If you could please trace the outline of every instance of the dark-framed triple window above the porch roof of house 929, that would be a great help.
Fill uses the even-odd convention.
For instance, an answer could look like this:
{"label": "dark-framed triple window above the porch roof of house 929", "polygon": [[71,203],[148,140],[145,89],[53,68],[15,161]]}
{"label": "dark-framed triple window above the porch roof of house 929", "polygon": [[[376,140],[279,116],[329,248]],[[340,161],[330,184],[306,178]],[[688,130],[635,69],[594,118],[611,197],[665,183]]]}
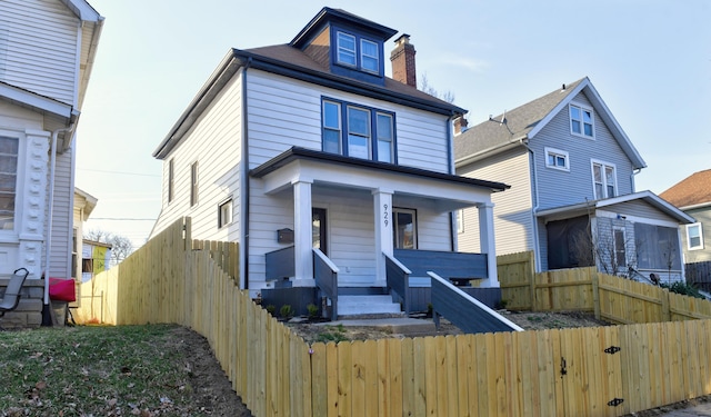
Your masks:
{"label": "dark-framed triple window above the porch roof of house 929", "polygon": [[352,158],[395,162],[394,115],[324,99],[322,150]]}

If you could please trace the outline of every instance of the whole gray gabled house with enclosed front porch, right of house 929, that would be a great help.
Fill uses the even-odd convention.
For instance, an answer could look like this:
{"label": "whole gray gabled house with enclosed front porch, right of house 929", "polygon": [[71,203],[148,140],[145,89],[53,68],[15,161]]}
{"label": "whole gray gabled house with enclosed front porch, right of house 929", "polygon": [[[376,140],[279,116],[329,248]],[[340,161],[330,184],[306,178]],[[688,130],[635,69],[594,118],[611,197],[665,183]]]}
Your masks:
{"label": "whole gray gabled house with enclosed front porch, right of house 929", "polygon": [[[644,160],[588,78],[465,130],[454,152],[458,175],[511,186],[492,196],[498,254],[533,250],[539,271],[683,278],[678,229],[693,219],[635,191]],[[460,218],[460,250],[479,250],[475,217]]]}

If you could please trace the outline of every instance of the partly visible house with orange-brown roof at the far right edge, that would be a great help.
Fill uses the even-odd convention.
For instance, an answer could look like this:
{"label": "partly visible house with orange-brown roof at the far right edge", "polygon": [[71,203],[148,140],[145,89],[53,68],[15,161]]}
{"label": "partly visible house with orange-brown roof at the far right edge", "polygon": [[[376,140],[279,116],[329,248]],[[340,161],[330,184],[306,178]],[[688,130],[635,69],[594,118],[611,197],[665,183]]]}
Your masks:
{"label": "partly visible house with orange-brown roof at the far right edge", "polygon": [[660,197],[695,219],[681,227],[684,262],[711,261],[711,169],[694,172]]}

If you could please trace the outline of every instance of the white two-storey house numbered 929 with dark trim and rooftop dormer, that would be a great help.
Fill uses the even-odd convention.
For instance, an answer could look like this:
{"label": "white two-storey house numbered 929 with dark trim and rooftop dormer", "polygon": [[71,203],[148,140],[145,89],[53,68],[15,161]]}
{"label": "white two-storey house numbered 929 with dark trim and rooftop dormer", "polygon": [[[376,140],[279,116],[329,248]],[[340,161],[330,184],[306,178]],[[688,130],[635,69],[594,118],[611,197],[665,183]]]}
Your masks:
{"label": "white two-storey house numbered 929 with dark trim and rooftop dormer", "polygon": [[491,193],[507,186],[454,175],[452,120],[465,110],[417,89],[407,34],[385,77],[395,33],[324,8],[289,43],[230,50],[153,153],[153,235],[190,216],[193,238],[240,242],[254,297],[280,249],[291,258],[276,274],[293,287],[314,287],[314,259],[339,287],[381,287],[398,250],[455,251],[452,214],[473,208],[488,255],[478,278],[498,287]]}

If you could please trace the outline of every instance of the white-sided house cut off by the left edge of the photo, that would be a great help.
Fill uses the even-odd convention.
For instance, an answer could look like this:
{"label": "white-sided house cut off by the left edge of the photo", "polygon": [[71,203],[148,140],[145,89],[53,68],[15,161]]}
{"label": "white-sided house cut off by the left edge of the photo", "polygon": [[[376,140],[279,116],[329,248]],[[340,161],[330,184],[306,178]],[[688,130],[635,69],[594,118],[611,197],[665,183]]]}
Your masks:
{"label": "white-sided house cut off by the left edge of the photo", "polygon": [[[83,0],[0,6],[0,275],[69,278],[74,133],[103,18]],[[48,225],[51,224],[51,234]]]}

